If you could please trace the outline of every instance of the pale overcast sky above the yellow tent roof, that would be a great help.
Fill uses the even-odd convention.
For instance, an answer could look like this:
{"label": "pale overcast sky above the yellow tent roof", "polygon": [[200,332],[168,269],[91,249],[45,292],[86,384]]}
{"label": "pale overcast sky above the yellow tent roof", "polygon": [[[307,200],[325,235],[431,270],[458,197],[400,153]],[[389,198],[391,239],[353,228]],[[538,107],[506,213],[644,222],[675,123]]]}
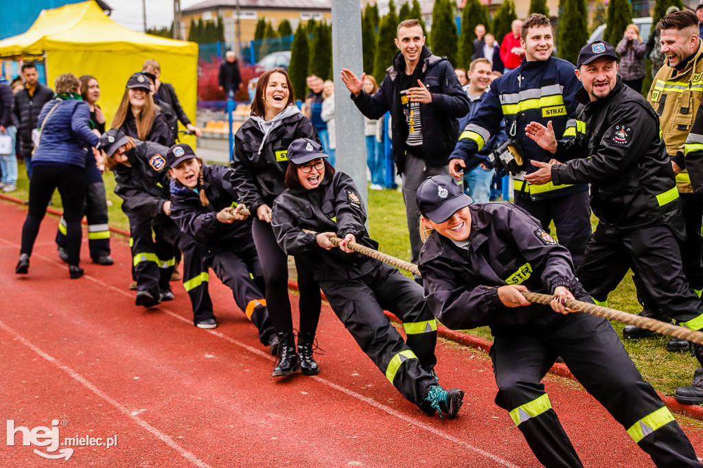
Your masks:
{"label": "pale overcast sky above the yellow tent roof", "polygon": [[[143,1],[146,1],[146,27],[170,26],[174,19],[173,0],[106,0],[112,8],[113,21],[130,30],[144,32]],[[181,0],[181,10],[202,0]]]}

